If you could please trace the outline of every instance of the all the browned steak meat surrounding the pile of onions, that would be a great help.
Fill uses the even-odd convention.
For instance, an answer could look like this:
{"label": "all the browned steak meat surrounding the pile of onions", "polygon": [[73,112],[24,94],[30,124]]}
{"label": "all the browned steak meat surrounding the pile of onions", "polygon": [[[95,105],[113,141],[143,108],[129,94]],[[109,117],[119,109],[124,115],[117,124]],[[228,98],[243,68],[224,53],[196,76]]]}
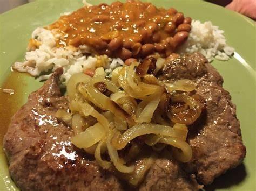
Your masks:
{"label": "all the browned steak meat surrounding the pile of onions", "polygon": [[[11,177],[22,190],[134,190],[70,142],[72,129],[55,117],[69,106],[58,86],[62,72],[57,69],[12,117],[4,137]],[[198,190],[196,178],[211,183],[245,157],[235,107],[219,73],[198,53],[166,63],[161,78],[196,82],[207,112],[190,127],[191,162],[159,157],[137,190]]]}

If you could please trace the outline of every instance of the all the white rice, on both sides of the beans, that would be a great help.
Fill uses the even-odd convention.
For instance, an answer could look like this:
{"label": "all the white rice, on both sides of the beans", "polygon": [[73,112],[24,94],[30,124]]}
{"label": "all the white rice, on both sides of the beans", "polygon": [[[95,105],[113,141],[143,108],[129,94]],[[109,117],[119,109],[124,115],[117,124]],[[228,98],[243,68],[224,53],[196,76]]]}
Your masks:
{"label": "all the white rice, on both sides of the beans", "polygon": [[[203,53],[209,61],[213,58],[228,60],[234,52],[234,48],[226,44],[224,31],[211,22],[201,23],[192,21],[192,30],[186,43],[180,47],[179,53]],[[51,73],[59,67],[63,67],[62,81],[68,82],[73,74],[84,72],[85,69],[95,69],[103,66],[107,75],[111,75],[114,68],[124,65],[120,58],[107,58],[107,56],[95,56],[90,54],[86,45],[78,48],[56,47],[56,41],[60,37],[55,31],[37,28],[32,33],[32,39],[36,39],[41,45],[26,52],[24,62],[15,62],[13,68],[19,72],[27,72],[32,76],[39,76],[39,80],[46,80]],[[89,56],[86,56],[88,55]],[[85,55],[86,54],[86,55]],[[104,62],[104,63],[99,63]],[[42,74],[47,73],[47,74]]]}

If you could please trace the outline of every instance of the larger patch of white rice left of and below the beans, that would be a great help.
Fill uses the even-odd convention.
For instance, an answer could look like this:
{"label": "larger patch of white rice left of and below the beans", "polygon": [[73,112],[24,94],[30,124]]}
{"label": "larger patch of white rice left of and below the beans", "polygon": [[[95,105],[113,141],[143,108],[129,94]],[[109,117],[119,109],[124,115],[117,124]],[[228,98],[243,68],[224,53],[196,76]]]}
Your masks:
{"label": "larger patch of white rice left of and below the beans", "polygon": [[[97,61],[105,59],[107,63],[102,63],[106,72],[110,74],[113,68],[124,65],[119,59],[107,58],[107,56],[85,56],[83,53],[89,53],[87,46],[74,48],[56,47],[57,37],[51,31],[37,28],[32,33],[32,38],[37,39],[41,45],[35,51],[28,51],[25,54],[24,62],[15,62],[13,68],[19,72],[28,72],[32,76],[39,76],[39,80],[46,80],[51,74],[41,75],[43,72],[50,73],[56,68],[63,67],[64,73],[62,80],[68,82],[73,74],[83,72],[85,69],[95,69]],[[103,57],[103,58],[102,58]]]}

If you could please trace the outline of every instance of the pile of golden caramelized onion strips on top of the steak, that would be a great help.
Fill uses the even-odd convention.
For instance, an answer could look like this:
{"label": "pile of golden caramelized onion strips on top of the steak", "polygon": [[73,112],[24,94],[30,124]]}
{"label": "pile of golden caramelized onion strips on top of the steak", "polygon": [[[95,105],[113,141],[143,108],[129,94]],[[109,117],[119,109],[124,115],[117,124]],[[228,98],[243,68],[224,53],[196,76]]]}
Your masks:
{"label": "pile of golden caramelized onion strips on top of the steak", "polygon": [[[171,145],[174,157],[182,162],[189,161],[192,155],[185,142],[188,133],[185,124],[193,123],[203,106],[200,97],[174,91],[194,90],[196,86],[192,81],[164,83],[153,75],[164,62],[149,56],[140,65],[132,62],[130,66],[114,69],[112,80],[106,79],[104,68],[99,67],[93,77],[77,74],[68,84],[72,111],[69,116],[75,132],[72,143],[94,154],[101,167],[114,166],[117,171],[127,173],[124,177],[134,186],[142,181],[154,161],[151,156],[141,160],[140,164],[137,161],[136,166],[125,165],[138,159],[136,156],[143,148],[138,143],[145,143],[158,152]],[[139,142],[134,140],[136,138]],[[118,150],[129,143],[132,145],[130,150],[124,157],[119,157]],[[102,159],[104,153],[109,155],[110,161]]]}

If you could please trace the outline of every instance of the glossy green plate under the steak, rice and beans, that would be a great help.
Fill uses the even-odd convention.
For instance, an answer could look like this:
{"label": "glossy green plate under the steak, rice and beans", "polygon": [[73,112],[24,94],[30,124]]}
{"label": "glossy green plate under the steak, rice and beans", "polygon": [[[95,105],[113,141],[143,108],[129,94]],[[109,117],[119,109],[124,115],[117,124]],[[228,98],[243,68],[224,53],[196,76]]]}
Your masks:
{"label": "glossy green plate under the steak, rice and beans", "polygon": [[[10,66],[22,61],[31,32],[38,26],[45,26],[58,19],[60,13],[76,10],[82,0],[38,0],[0,15],[0,87],[15,89],[14,95],[0,93],[0,190],[16,190],[8,173],[8,164],[2,149],[2,138],[11,115],[26,102],[28,94],[42,83],[29,75],[11,73]],[[91,1],[93,4],[111,1]],[[244,163],[228,171],[207,190],[255,190],[255,23],[220,6],[203,1],[151,1],[157,6],[174,8],[187,16],[201,21],[211,20],[225,31],[227,43],[235,48],[235,55],[229,61],[214,60],[224,78],[224,87],[230,91],[232,101],[237,105],[237,116],[241,122],[242,138],[247,148]]]}

